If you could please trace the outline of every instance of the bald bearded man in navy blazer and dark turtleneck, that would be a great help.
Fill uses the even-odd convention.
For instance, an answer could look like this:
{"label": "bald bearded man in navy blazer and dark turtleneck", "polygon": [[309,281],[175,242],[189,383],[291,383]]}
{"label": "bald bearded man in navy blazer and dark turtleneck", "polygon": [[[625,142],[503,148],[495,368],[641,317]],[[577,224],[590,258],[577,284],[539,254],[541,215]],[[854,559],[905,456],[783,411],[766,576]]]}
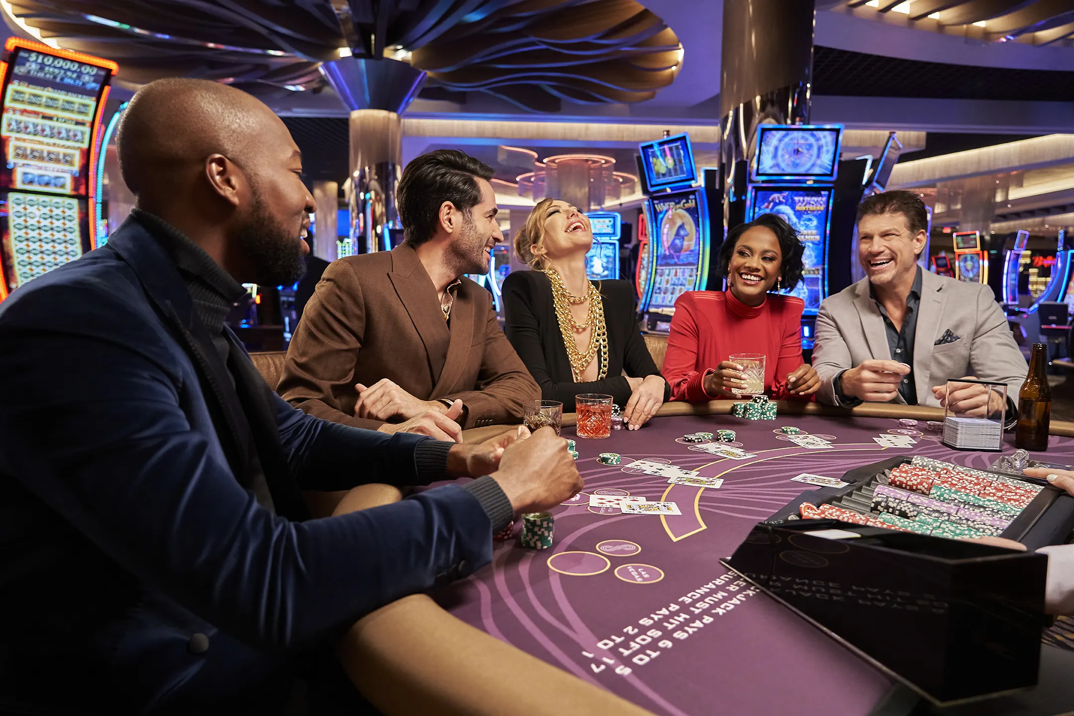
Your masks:
{"label": "bald bearded man in navy blazer and dark turtleneck", "polygon": [[[359,617],[581,480],[550,428],[389,436],[268,389],[223,318],[242,282],[297,278],[314,203],[266,106],[155,82],[118,145],[132,216],[0,306],[0,711],[279,713]],[[300,493],[448,476],[479,479],[322,520]]]}

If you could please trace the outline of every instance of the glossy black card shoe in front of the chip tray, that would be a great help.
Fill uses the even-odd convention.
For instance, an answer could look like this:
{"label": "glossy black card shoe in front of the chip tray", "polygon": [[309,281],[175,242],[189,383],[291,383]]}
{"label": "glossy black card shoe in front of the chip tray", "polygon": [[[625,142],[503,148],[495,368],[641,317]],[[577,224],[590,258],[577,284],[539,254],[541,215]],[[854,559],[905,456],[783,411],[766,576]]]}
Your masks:
{"label": "glossy black card shoe in front of the chip tray", "polygon": [[724,564],[937,704],[1036,684],[1043,554],[811,520]]}

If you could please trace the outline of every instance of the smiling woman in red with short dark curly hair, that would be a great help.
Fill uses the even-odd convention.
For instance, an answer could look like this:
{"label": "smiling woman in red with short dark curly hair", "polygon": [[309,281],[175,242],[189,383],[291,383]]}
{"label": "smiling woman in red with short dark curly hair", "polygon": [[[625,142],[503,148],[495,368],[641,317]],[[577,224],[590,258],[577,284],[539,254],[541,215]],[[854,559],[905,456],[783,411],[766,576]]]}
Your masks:
{"label": "smiling woman in red with short dark curly hair", "polygon": [[720,268],[726,291],[687,291],[676,301],[663,370],[671,399],[739,397],[731,391],[745,381],[731,353],[765,354],[765,391],[773,398],[812,399],[821,380],[802,362],[804,303],[769,293],[801,280],[798,234],[783,218],[763,214],[727,234]]}

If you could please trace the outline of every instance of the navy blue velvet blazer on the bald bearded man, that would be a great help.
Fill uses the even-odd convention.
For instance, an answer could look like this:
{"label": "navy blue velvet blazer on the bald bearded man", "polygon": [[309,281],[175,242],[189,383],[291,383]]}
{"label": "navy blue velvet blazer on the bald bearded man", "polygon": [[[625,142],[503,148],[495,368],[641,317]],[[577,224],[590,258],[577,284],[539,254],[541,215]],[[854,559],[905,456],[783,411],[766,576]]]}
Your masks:
{"label": "navy blue velvet blazer on the bald bearded man", "polygon": [[[259,505],[221,440],[221,415],[249,405],[199,330],[133,219],[0,305],[0,706],[278,710],[304,654],[491,559],[489,517],[455,485],[326,520]],[[442,477],[417,464],[421,436],[321,421],[267,388],[257,399],[276,512],[301,510],[300,488]]]}

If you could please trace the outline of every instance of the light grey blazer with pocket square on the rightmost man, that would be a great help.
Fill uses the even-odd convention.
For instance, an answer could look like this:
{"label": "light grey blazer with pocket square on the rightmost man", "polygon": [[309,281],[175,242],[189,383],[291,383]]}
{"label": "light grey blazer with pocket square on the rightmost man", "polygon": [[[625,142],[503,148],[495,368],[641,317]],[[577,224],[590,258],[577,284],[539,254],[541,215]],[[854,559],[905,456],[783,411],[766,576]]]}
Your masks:
{"label": "light grey blazer with pocket square on the rightmost man", "polygon": [[[991,289],[923,272],[919,311],[913,364],[918,405],[939,407],[932,386],[966,376],[1006,383],[1007,396],[1018,404],[1029,366]],[[935,346],[948,328],[959,339]],[[890,360],[891,352],[884,317],[863,278],[821,304],[813,348],[813,367],[821,377],[817,399],[840,405],[832,380],[869,359]],[[892,403],[905,400],[897,396]]]}

